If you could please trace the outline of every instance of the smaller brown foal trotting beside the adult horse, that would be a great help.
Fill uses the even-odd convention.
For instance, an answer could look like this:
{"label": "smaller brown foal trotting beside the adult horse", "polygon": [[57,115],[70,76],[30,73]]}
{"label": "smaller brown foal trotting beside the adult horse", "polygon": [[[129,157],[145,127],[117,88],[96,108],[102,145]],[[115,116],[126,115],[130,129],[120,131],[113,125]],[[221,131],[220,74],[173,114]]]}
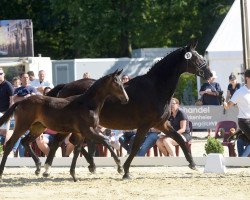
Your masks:
{"label": "smaller brown foal trotting beside the adult horse", "polygon": [[[1,161],[0,177],[2,177],[7,157],[18,138],[30,130],[29,135],[24,138],[26,139],[25,144],[28,144],[34,141],[46,128],[57,131],[58,135],[72,133],[74,135],[72,138],[75,140],[71,139],[71,141],[76,146],[85,137],[102,143],[111,151],[118,165],[118,171],[121,170],[120,160],[109,142],[95,131],[99,125],[99,113],[108,96],[114,96],[123,103],[128,102],[128,95],[119,78],[121,72],[122,70],[117,70],[104,76],[97,80],[84,94],[74,98],[63,99],[34,95],[13,104],[0,118],[0,126],[7,122],[13,114],[15,118],[14,132],[6,143]],[[27,150],[31,151],[29,146]]]}

